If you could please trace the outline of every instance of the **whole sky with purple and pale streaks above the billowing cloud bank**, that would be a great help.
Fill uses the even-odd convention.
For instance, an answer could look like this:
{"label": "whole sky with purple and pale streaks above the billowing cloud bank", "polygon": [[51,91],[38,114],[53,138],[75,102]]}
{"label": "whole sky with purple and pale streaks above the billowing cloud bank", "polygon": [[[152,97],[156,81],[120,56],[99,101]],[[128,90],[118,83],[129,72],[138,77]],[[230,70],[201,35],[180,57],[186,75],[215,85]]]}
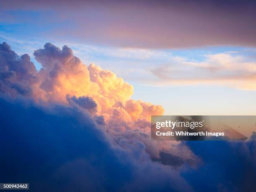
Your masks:
{"label": "whole sky with purple and pale streaks above the billowing cloud bank", "polygon": [[254,4],[228,2],[8,1],[0,8],[0,41],[28,53],[38,70],[34,50],[68,45],[166,115],[254,115]]}

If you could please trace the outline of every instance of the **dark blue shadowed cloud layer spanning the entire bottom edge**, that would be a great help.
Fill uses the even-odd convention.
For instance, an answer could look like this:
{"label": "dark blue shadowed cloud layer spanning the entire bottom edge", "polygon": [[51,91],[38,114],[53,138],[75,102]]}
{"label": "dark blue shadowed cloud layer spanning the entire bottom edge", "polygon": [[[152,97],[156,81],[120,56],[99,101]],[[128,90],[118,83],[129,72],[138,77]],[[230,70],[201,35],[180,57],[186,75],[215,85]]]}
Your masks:
{"label": "dark blue shadowed cloud layer spanning the entire bottom edge", "polygon": [[136,163],[110,144],[82,108],[8,100],[0,98],[1,182],[29,182],[36,192],[251,192],[256,187],[255,141],[181,143],[201,162],[175,171],[156,162]]}

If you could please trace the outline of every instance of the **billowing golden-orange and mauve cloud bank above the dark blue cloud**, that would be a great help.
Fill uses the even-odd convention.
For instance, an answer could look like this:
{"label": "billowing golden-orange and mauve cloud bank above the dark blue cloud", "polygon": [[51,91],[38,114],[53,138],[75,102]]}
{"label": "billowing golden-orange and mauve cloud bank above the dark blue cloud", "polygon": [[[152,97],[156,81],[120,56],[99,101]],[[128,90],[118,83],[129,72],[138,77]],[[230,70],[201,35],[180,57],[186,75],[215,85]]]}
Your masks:
{"label": "billowing golden-orange and mauve cloud bank above the dark blue cloud", "polygon": [[160,105],[131,100],[130,84],[95,64],[87,68],[67,46],[59,49],[47,43],[44,49],[34,51],[42,66],[40,71],[36,71],[28,55],[19,57],[6,43],[1,46],[1,55],[2,81],[13,79],[12,84],[3,83],[2,92],[25,96],[27,88],[37,102],[58,102],[87,110],[99,125],[104,125],[112,143],[123,149],[134,149],[141,143],[141,149],[152,158],[159,157],[160,150],[175,153],[175,147],[166,148],[150,138],[150,116],[164,113]]}

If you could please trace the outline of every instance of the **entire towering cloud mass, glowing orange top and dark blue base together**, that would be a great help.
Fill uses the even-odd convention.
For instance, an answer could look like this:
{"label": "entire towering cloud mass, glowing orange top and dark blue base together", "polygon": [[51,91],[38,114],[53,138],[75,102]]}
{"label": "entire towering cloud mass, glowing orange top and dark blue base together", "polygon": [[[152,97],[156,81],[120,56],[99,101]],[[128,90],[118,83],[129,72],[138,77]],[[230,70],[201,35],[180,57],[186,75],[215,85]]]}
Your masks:
{"label": "entire towering cloud mass, glowing orange top and dark blue base together", "polygon": [[255,189],[255,141],[152,141],[160,105],[131,100],[131,85],[67,46],[34,55],[40,71],[0,44],[2,182],[36,192]]}

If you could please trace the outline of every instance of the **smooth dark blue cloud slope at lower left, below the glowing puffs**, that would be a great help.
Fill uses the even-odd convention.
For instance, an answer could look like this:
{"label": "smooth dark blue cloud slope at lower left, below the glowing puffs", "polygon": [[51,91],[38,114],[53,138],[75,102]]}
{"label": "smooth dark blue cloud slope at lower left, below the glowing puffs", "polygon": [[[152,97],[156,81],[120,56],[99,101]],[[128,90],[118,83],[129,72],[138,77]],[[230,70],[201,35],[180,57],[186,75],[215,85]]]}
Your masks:
{"label": "smooth dark blue cloud slope at lower left, below the glowing puffs", "polygon": [[0,105],[2,182],[29,182],[36,192],[151,191],[159,184],[171,191],[191,190],[171,167],[149,158],[141,164],[113,146],[81,108],[46,107],[24,98],[0,98]]}

